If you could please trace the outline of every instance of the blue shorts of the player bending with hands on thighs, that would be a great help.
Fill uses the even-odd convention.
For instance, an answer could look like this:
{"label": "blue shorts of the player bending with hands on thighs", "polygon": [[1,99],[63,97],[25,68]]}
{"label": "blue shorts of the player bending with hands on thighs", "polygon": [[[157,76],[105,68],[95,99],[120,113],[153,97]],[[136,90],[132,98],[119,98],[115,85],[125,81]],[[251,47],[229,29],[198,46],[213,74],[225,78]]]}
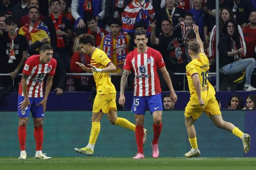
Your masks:
{"label": "blue shorts of the player bending with hands on thighs", "polygon": [[43,118],[44,113],[43,113],[43,106],[39,104],[42,100],[43,97],[41,98],[29,98],[29,102],[31,106],[28,106],[24,110],[20,110],[19,108],[19,103],[23,102],[24,96],[18,96],[18,116],[19,117],[28,117],[29,116],[29,111],[31,110],[32,116],[35,118]]}

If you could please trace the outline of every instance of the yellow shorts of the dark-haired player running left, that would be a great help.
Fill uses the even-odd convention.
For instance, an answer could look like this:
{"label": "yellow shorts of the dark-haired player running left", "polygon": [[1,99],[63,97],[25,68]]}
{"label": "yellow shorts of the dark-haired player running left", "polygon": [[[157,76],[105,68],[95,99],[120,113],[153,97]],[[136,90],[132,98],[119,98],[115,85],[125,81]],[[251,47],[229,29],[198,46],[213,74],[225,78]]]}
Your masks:
{"label": "yellow shorts of the dark-haired player running left", "polygon": [[117,110],[115,103],[116,93],[97,94],[93,102],[93,113],[98,113],[100,110],[107,114],[110,110]]}

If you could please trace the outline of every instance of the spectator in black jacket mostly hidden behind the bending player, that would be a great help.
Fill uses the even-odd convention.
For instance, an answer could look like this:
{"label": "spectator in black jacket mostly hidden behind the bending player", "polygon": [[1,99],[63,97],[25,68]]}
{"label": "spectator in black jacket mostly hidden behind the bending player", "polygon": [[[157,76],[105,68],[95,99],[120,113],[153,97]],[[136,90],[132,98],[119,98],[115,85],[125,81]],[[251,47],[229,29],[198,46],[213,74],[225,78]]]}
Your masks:
{"label": "spectator in black jacket mostly hidden behind the bending player", "polygon": [[[36,49],[41,47],[44,43],[48,43],[48,38],[43,38],[40,41],[36,41],[32,45],[30,45],[27,49],[29,55],[39,54],[39,51]],[[66,70],[61,57],[56,51],[53,51],[52,56],[57,61],[57,67],[55,71],[55,75],[52,81],[52,88],[51,91],[56,91],[56,95],[61,95],[63,90],[66,88]]]}

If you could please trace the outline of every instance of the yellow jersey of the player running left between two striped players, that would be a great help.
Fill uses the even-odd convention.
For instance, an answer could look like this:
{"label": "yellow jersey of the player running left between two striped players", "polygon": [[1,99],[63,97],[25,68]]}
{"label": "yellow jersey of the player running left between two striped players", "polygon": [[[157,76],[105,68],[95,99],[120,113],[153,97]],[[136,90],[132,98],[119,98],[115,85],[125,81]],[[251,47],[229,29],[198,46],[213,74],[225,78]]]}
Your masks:
{"label": "yellow jersey of the player running left between two striped players", "polygon": [[[91,56],[91,65],[96,68],[106,68],[111,63],[106,53],[98,48],[95,49]],[[116,93],[115,86],[111,82],[110,72],[93,72],[96,83],[97,94]]]}

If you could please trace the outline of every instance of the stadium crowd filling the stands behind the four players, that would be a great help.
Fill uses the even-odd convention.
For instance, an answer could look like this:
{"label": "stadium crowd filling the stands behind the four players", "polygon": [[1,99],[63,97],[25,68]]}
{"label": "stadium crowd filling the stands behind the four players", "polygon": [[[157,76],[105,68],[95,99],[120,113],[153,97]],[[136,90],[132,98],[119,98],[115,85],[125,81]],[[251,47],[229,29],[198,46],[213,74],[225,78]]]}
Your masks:
{"label": "stadium crowd filling the stands behind the four players", "polygon": [[[256,82],[256,0],[219,0],[219,68],[221,91],[253,91]],[[61,95],[72,83],[75,91],[95,91],[92,76],[76,62],[90,64],[82,53],[81,34],[92,34],[116,66],[111,81],[120,90],[126,55],[136,48],[135,31],[148,34],[148,46],[163,55],[176,91],[187,88],[183,76],[191,61],[188,43],[195,38],[192,25],[199,27],[210,71],[216,72],[215,0],[0,0],[0,77],[1,87],[17,91],[24,62],[50,43],[57,60],[52,91]],[[134,75],[128,77],[127,91],[132,91]],[[214,85],[215,76],[209,80]],[[14,83],[13,83],[14,82]],[[168,87],[160,76],[163,91]],[[13,85],[14,84],[14,85]],[[185,85],[184,85],[185,84]],[[231,106],[230,106],[231,107]]]}

